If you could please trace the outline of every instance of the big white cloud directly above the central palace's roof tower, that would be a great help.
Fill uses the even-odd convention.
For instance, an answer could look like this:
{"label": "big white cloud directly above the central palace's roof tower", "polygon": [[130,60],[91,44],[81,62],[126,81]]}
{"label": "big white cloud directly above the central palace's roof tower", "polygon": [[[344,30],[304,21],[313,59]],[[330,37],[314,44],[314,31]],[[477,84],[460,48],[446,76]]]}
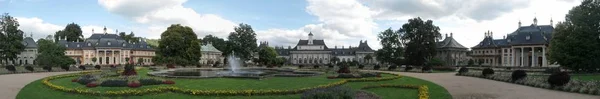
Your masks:
{"label": "big white cloud directly above the central palace's roof tower", "polygon": [[328,47],[358,46],[360,40],[379,48],[373,29],[377,24],[375,12],[355,0],[308,0],[306,12],[318,17],[319,23],[298,29],[268,29],[258,31],[258,39],[269,41],[271,46],[294,46],[299,39],[307,39],[312,32],[315,39],[324,39]]}

